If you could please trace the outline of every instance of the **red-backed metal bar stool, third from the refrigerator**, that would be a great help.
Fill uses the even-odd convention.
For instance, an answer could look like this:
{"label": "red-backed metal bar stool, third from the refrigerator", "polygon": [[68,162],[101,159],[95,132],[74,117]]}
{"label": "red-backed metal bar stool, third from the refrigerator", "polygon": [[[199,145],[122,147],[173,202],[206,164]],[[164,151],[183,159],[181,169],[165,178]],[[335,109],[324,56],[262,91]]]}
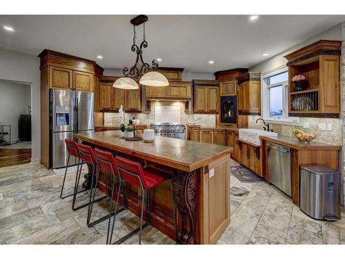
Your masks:
{"label": "red-backed metal bar stool, third from the refrigerator", "polygon": [[[108,195],[108,197],[110,197],[110,212],[108,215],[109,218],[109,222],[108,222],[108,233],[107,233],[107,244],[108,244],[108,240],[109,240],[109,233],[110,233],[110,219],[111,216],[114,215],[115,211],[112,212],[112,201],[114,198],[114,193],[116,188],[116,182],[117,182],[117,165],[115,163],[115,159],[112,155],[112,153],[108,152],[108,151],[103,151],[99,148],[95,148],[95,155],[96,155],[96,159],[98,162],[98,166],[99,166],[99,171],[103,171],[104,173],[104,177],[105,177],[105,182],[106,182],[106,193]],[[100,173],[99,172],[99,173]],[[99,180],[99,175],[97,175],[96,178],[96,184],[95,186],[97,186],[98,184],[98,180]],[[111,183],[111,189],[109,189]],[[93,193],[92,196],[92,201],[90,202],[90,206],[89,206],[89,212],[90,214],[92,213],[92,206],[95,200],[95,193]],[[126,194],[126,193],[125,193]],[[126,198],[124,198],[124,200],[126,200]],[[119,213],[121,211],[124,211],[127,208],[126,204],[124,207],[122,207],[121,209],[118,209],[116,211],[116,213]]]}

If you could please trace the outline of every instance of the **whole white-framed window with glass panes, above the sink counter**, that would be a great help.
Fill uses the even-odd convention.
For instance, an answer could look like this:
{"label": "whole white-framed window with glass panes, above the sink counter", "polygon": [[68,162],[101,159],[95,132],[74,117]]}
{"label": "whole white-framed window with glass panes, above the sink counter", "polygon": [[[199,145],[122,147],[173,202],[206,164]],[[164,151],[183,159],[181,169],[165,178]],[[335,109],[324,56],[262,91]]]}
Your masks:
{"label": "whole white-framed window with glass panes, above the sink counter", "polygon": [[264,119],[276,122],[299,122],[288,117],[288,71],[279,68],[262,75],[262,108]]}

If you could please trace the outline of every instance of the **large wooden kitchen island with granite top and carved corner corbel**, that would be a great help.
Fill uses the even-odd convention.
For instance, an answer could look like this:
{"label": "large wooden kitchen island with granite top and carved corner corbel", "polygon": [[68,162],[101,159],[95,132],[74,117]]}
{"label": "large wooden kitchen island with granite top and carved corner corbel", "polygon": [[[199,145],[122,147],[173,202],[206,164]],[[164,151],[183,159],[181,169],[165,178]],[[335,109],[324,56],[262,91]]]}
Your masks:
{"label": "large wooden kitchen island with granite top and carved corner corbel", "polygon": [[[150,192],[151,224],[181,244],[214,244],[230,224],[230,146],[156,136],[154,143],[126,141],[119,131],[73,135],[93,147],[111,151],[171,174],[177,208],[177,238],[170,181]],[[101,175],[102,176],[102,175]],[[106,192],[102,180],[98,188]],[[123,193],[120,202],[124,200]],[[128,209],[139,215],[141,191],[128,186]]]}

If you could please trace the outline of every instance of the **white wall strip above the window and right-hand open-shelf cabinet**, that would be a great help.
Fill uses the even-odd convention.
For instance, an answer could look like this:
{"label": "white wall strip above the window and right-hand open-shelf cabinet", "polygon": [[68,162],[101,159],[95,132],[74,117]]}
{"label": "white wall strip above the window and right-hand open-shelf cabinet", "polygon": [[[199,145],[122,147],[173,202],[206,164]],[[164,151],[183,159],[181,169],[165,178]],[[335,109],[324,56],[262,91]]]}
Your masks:
{"label": "white wall strip above the window and right-hand open-shelf cabinet", "polygon": [[[284,33],[284,30],[282,30],[282,33]],[[315,35],[314,37],[311,37],[310,39],[307,39],[306,41],[303,41],[300,44],[297,44],[296,46],[293,46],[288,50],[285,50],[284,52],[275,55],[274,57],[271,57],[270,59],[267,59],[255,66],[252,66],[251,68],[249,68],[249,71],[263,73],[274,68],[285,66],[287,61],[284,58],[284,56],[286,54],[293,52],[299,48],[302,48],[304,46],[307,46],[309,44],[313,44],[315,41],[319,41],[320,39],[342,39],[342,24],[339,23],[336,26],[333,26],[332,28],[324,32],[321,32],[320,34]]]}

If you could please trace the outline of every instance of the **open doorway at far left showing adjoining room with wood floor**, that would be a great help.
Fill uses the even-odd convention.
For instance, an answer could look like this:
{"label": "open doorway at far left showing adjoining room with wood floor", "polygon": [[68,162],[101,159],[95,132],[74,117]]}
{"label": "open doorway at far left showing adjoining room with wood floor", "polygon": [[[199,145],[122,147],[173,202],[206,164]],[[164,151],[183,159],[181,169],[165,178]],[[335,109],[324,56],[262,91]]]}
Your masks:
{"label": "open doorway at far left showing adjoining room with wood floor", "polygon": [[0,167],[31,161],[31,87],[0,79]]}

